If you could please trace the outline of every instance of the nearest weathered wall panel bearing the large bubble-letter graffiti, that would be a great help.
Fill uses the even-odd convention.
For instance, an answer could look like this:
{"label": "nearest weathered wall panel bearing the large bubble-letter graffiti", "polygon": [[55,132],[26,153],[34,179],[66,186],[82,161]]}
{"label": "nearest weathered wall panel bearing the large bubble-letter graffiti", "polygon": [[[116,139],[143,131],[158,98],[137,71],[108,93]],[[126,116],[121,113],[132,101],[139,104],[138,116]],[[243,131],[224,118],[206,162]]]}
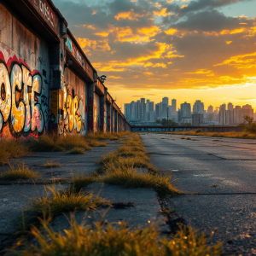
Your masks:
{"label": "nearest weathered wall panel bearing the large bubble-letter graffiti", "polygon": [[38,137],[49,119],[48,45],[0,7],[0,137]]}

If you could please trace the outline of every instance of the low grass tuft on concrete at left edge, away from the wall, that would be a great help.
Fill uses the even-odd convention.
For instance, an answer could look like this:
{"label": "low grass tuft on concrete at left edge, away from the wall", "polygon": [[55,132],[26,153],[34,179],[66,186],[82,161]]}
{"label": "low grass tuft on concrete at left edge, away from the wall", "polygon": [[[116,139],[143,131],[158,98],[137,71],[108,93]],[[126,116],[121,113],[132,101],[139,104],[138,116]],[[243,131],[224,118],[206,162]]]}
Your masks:
{"label": "low grass tuft on concrete at left edge, away from the wall", "polygon": [[32,171],[29,167],[22,163],[18,167],[11,166],[11,169],[7,172],[3,172],[0,175],[0,180],[20,180],[29,178],[38,178],[40,175],[38,172]]}

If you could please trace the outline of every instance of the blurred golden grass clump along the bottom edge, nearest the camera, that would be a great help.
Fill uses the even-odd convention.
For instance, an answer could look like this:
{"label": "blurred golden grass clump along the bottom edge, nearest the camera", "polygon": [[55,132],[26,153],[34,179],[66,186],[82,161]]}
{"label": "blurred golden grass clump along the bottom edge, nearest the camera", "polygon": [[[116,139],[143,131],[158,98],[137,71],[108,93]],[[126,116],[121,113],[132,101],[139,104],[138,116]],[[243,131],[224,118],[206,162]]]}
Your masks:
{"label": "blurred golden grass clump along the bottom edge, nearest the camera", "polygon": [[20,256],[220,256],[223,253],[222,244],[209,245],[207,236],[194,232],[192,228],[181,228],[172,239],[162,240],[155,225],[131,230],[125,223],[113,228],[111,224],[106,227],[97,222],[91,230],[90,226],[76,224],[72,218],[70,230],[61,233],[49,226],[49,219],[41,220],[41,223],[43,230],[32,228],[37,246],[27,245],[18,252]]}

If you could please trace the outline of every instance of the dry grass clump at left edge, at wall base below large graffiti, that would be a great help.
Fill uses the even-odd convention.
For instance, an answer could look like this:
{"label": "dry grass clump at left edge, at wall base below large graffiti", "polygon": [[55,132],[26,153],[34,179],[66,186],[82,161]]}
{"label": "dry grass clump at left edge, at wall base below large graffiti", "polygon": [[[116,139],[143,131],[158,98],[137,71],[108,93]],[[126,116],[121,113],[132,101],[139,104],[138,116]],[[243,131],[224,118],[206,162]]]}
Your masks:
{"label": "dry grass clump at left edge, at wall base below large graffiti", "polygon": [[0,139],[0,148],[0,166],[7,164],[9,159],[29,154],[29,149],[23,141]]}

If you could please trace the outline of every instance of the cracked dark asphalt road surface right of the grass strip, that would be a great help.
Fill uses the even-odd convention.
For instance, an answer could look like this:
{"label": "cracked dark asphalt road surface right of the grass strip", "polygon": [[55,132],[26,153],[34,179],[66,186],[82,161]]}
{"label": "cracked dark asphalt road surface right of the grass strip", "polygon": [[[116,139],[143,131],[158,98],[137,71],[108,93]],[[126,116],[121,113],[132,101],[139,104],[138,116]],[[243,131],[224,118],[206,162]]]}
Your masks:
{"label": "cracked dark asphalt road surface right of the grass strip", "polygon": [[[144,133],[152,163],[188,194],[168,201],[195,229],[236,255],[256,255],[256,141]],[[185,136],[188,137],[188,136]],[[217,184],[217,187],[212,185]]]}

